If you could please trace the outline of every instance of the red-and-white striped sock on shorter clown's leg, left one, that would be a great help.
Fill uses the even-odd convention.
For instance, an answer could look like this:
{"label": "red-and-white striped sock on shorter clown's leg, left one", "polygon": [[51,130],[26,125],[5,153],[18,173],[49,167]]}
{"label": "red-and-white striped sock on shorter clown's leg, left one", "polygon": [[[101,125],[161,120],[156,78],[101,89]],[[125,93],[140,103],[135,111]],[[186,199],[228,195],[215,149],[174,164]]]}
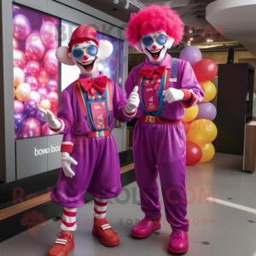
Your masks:
{"label": "red-and-white striped sock on shorter clown's leg, left one", "polygon": [[78,208],[64,207],[63,217],[61,221],[61,230],[74,231],[77,229],[76,216]]}

